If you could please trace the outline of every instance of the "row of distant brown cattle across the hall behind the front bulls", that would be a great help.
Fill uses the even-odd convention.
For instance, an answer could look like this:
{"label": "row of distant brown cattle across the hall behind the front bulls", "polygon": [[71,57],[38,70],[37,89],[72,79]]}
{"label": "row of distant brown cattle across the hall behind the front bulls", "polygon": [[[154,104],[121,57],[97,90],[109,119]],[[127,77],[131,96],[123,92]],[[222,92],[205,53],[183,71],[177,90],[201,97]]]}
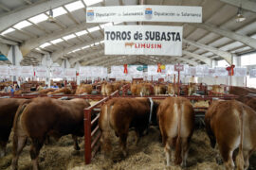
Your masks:
{"label": "row of distant brown cattle across the hall behind the front bulls", "polygon": [[[188,85],[182,85],[178,87],[178,84],[174,83],[153,83],[150,81],[133,81],[132,83],[129,81],[115,81],[115,82],[106,82],[102,81],[97,84],[81,84],[76,89],[69,89],[69,88],[62,88],[62,89],[43,89],[38,92],[34,93],[40,93],[40,94],[91,94],[94,90],[99,91],[102,95],[110,95],[111,93],[114,93],[117,90],[122,90],[122,87],[124,85],[127,85],[128,89],[132,95],[159,95],[159,94],[170,94],[170,95],[177,95],[179,94],[183,95],[192,95],[194,93],[197,93],[198,90],[200,90],[199,84],[195,83],[189,83]],[[100,87],[100,88],[95,88]],[[210,87],[209,90],[215,93],[224,93],[225,86],[222,85],[212,85],[208,86]],[[29,93],[23,90],[16,91],[14,94],[20,94],[20,93]]]}

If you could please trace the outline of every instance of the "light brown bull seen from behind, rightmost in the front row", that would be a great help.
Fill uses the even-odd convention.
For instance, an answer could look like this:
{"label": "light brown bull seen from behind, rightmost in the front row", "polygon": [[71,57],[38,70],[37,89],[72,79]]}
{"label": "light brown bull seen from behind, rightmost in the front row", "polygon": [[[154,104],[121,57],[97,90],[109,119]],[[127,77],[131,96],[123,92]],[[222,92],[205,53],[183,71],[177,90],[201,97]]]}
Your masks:
{"label": "light brown bull seen from behind, rightmost in the front row", "polygon": [[212,147],[218,144],[227,170],[234,169],[233,151],[239,149],[236,166],[247,169],[249,157],[256,150],[256,112],[236,101],[214,101],[205,115]]}

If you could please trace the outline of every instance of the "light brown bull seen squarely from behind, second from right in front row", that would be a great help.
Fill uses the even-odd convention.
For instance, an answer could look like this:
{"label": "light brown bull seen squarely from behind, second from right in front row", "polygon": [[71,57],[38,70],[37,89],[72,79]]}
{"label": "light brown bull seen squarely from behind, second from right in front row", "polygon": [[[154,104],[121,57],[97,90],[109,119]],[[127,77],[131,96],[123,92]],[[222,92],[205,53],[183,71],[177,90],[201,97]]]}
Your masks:
{"label": "light brown bull seen squarely from behind, second from right in front row", "polygon": [[167,166],[170,166],[173,150],[174,163],[182,162],[182,165],[186,166],[194,122],[190,100],[183,97],[166,98],[159,105],[157,118],[165,145]]}

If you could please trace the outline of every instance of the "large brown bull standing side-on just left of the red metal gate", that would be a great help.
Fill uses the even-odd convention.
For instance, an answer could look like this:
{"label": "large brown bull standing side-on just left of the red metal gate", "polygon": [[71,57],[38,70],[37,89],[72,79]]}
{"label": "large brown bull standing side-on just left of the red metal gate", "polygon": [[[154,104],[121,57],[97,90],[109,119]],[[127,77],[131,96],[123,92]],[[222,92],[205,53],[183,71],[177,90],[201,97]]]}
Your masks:
{"label": "large brown bull standing side-on just left of the red metal gate", "polygon": [[[13,158],[11,167],[17,169],[18,158],[31,140],[30,158],[33,169],[38,169],[38,156],[46,135],[60,138],[72,134],[73,138],[83,135],[83,109],[90,104],[80,98],[57,100],[38,97],[20,105],[13,123]],[[75,149],[79,149],[75,144]]]}

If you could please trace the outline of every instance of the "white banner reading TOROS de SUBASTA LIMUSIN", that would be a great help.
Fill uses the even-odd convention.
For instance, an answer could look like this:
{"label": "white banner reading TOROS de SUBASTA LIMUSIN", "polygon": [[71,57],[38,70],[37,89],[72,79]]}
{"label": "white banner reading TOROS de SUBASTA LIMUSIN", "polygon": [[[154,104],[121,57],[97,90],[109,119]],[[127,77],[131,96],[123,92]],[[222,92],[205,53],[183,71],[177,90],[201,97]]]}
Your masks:
{"label": "white banner reading TOROS de SUBASTA LIMUSIN", "polygon": [[182,55],[182,26],[105,26],[105,55]]}

